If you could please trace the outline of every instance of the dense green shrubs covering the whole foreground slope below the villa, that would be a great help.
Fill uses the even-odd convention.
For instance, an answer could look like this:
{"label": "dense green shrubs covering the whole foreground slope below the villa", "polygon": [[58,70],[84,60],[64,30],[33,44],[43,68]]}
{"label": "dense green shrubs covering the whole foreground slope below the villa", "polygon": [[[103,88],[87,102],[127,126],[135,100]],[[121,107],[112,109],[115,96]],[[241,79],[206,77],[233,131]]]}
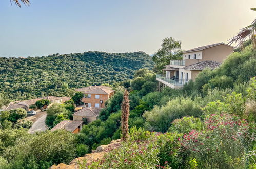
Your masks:
{"label": "dense green shrubs covering the whole foreground slope below the villa", "polygon": [[[48,168],[120,138],[126,88],[130,92],[129,141],[108,153],[104,161],[87,167],[253,168],[255,61],[256,51],[249,45],[231,54],[220,68],[202,71],[184,88],[161,92],[156,91],[154,72],[140,69],[133,79],[113,85],[116,93],[99,120],[84,125],[78,134],[47,131],[29,135],[26,129],[2,127],[0,166]],[[67,105],[48,109],[49,126],[72,117]]]}

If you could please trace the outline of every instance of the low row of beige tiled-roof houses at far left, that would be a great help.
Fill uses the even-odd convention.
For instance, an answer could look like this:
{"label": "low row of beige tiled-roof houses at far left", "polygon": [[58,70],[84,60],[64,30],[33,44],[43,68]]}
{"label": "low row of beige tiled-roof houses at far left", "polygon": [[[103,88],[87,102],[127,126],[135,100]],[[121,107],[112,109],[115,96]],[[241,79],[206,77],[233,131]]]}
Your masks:
{"label": "low row of beige tiled-roof houses at far left", "polygon": [[30,110],[29,107],[31,105],[35,105],[36,101],[42,100],[42,99],[50,100],[51,104],[53,104],[53,103],[63,103],[67,100],[70,100],[69,97],[46,96],[46,97],[35,98],[35,99],[30,99],[30,100],[11,102],[9,105],[3,107],[1,110],[3,111],[3,110],[12,110],[12,109],[22,108],[22,109],[25,109],[26,111],[29,111]]}

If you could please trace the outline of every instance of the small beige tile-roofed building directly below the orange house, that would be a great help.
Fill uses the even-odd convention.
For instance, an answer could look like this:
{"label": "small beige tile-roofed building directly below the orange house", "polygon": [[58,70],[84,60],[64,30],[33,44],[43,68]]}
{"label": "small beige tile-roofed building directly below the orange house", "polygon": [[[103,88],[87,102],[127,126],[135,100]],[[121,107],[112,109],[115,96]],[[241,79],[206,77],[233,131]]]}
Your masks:
{"label": "small beige tile-roofed building directly below the orange house", "polygon": [[73,120],[82,121],[83,118],[87,118],[88,122],[92,122],[98,119],[101,108],[96,107],[84,107],[73,114]]}

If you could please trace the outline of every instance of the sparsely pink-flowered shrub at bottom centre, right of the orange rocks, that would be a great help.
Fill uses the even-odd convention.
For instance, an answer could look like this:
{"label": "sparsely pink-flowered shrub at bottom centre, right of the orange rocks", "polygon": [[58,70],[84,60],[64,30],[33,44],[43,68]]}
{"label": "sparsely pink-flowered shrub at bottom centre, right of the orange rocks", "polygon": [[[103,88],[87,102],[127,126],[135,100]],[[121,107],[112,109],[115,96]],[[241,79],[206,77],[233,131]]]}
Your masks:
{"label": "sparsely pink-flowered shrub at bottom centre, right of the orange rocks", "polygon": [[159,165],[156,141],[122,143],[107,153],[104,160],[81,168],[156,168]]}

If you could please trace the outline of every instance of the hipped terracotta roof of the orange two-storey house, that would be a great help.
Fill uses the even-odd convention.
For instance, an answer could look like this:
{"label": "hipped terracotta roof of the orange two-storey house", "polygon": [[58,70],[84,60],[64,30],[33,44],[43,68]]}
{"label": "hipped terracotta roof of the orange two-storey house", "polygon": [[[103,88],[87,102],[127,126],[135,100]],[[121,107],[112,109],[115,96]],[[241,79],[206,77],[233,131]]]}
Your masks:
{"label": "hipped terracotta roof of the orange two-storey house", "polygon": [[83,92],[84,94],[110,94],[114,92],[114,90],[107,86],[89,86],[75,89],[75,91]]}

